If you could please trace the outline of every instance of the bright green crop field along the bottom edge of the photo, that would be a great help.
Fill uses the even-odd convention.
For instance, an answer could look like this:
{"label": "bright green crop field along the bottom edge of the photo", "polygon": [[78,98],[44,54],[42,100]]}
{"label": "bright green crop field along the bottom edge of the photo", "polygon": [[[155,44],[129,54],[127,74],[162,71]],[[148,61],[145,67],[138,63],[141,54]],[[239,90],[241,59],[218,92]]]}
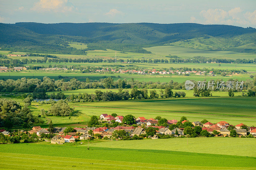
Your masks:
{"label": "bright green crop field along the bottom edge of the photo", "polygon": [[[159,140],[162,139],[158,139],[157,141]],[[184,138],[183,140],[186,141],[187,139]],[[104,142],[104,144],[111,145],[111,142]],[[165,145],[162,146],[164,147]],[[255,157],[252,156],[193,153],[151,148],[137,149],[136,147],[126,149],[90,146],[90,150],[87,150],[83,146],[68,146],[65,144],[14,144],[2,145],[0,152],[0,158],[2,160],[0,163],[1,167],[4,168],[7,166],[5,164],[6,161],[3,160],[13,160],[11,166],[17,167],[17,169],[24,169],[27,167],[27,163],[33,169],[44,169],[46,165],[52,168],[52,166],[55,167],[59,164],[62,164],[61,166],[63,164],[67,165],[66,167],[70,167],[70,169],[97,169],[97,167],[103,167],[105,169],[127,169],[128,167],[141,169],[144,165],[153,165],[159,169],[228,169],[227,167],[232,167],[232,169],[248,169],[250,167],[253,168],[256,163]],[[29,162],[33,160],[40,161],[36,165],[31,165]]]}

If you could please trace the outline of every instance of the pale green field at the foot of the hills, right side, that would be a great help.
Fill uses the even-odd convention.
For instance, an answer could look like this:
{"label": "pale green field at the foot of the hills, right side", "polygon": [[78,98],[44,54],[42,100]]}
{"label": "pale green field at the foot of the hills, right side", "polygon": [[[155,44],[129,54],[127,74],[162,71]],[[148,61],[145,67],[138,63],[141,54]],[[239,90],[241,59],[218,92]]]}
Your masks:
{"label": "pale green field at the foot of the hills, right side", "polygon": [[238,53],[232,51],[206,51],[194,48],[177,47],[177,46],[153,46],[144,48],[147,51],[151,51],[154,54],[166,56],[177,55],[182,58],[192,58],[194,56],[203,56],[210,58],[220,59],[255,59],[253,53]]}

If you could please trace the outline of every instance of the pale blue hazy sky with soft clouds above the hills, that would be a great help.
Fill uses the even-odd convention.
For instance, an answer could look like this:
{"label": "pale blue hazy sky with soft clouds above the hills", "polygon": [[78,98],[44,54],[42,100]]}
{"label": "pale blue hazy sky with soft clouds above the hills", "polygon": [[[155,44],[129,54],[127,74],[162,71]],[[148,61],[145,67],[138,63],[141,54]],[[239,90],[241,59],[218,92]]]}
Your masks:
{"label": "pale blue hazy sky with soft clouds above the hills", "polygon": [[0,23],[199,23],[256,28],[256,0],[0,0]]}

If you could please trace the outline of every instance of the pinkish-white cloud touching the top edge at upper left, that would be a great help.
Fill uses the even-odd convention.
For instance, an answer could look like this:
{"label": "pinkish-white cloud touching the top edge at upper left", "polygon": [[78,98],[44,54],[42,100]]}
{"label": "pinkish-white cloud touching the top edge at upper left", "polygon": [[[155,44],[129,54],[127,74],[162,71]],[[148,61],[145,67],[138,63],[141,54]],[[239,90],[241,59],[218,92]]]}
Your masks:
{"label": "pinkish-white cloud touching the top edge at upper left", "polygon": [[36,12],[68,12],[73,11],[75,7],[68,0],[40,0],[36,2],[31,10]]}

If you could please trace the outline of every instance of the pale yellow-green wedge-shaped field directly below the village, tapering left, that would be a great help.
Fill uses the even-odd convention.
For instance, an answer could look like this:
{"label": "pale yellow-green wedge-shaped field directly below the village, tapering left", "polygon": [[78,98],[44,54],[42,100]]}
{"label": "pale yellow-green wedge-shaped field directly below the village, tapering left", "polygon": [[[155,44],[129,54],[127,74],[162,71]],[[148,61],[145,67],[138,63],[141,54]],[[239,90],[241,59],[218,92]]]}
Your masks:
{"label": "pale yellow-green wedge-shaped field directly below the village, tapering left", "polygon": [[[90,146],[124,149],[156,149],[194,153],[225,154],[256,157],[252,148],[255,138],[170,138],[157,140],[132,140],[93,143]],[[81,145],[84,147],[85,145]]]}

